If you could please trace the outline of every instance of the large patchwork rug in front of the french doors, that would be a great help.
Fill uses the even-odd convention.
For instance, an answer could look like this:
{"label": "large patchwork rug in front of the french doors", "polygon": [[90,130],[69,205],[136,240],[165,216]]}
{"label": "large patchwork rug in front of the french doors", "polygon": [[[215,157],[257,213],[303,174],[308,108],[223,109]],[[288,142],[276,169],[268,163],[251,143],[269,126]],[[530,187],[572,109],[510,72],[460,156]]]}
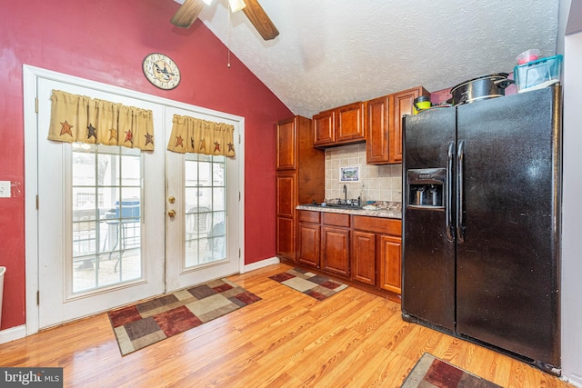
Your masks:
{"label": "large patchwork rug in front of the french doors", "polygon": [[212,321],[261,298],[227,279],[108,312],[122,355]]}

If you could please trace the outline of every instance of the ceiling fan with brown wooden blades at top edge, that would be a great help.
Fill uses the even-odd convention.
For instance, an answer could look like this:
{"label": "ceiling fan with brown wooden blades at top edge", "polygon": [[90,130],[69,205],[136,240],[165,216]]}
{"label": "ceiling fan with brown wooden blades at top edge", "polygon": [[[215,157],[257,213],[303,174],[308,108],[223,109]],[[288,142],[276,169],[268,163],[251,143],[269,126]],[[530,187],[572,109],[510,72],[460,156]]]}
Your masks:
{"label": "ceiling fan with brown wooden blades at top edge", "polygon": [[[178,8],[176,15],[172,17],[172,24],[176,27],[188,28],[194,23],[204,5],[210,5],[210,3],[212,0],[185,0],[184,4]],[[279,35],[276,26],[256,0],[228,0],[228,5],[232,12],[242,9],[263,39],[271,40]]]}

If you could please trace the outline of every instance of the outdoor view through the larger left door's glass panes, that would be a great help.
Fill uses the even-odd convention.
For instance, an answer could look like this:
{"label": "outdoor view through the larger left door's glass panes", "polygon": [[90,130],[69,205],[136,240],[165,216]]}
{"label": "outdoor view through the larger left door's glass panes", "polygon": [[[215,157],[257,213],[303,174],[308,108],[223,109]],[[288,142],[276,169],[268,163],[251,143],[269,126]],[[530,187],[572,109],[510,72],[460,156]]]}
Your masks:
{"label": "outdoor view through the larger left door's glass panes", "polygon": [[142,277],[140,151],[72,144],[72,293]]}

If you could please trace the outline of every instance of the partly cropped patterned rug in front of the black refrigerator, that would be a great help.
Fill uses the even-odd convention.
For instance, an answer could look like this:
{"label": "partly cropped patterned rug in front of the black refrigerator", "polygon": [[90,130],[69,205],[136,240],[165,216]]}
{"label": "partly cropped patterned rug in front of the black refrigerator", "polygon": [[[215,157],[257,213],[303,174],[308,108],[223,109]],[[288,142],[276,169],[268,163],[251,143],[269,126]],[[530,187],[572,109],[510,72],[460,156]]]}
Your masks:
{"label": "partly cropped patterned rug in front of the black refrigerator", "polygon": [[501,388],[455,365],[424,353],[401,388]]}

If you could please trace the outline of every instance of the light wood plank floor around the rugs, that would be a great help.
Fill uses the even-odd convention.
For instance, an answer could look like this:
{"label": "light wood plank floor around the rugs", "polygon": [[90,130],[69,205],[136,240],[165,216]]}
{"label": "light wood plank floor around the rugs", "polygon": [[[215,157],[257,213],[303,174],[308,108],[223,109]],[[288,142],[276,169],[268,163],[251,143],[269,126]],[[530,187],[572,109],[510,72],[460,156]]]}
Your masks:
{"label": "light wood plank floor around the rugs", "polygon": [[60,366],[75,387],[399,387],[425,352],[504,387],[567,387],[525,363],[426,327],[348,287],[323,302],[267,276],[229,279],[262,301],[121,357],[105,313],[0,344],[2,366]]}

